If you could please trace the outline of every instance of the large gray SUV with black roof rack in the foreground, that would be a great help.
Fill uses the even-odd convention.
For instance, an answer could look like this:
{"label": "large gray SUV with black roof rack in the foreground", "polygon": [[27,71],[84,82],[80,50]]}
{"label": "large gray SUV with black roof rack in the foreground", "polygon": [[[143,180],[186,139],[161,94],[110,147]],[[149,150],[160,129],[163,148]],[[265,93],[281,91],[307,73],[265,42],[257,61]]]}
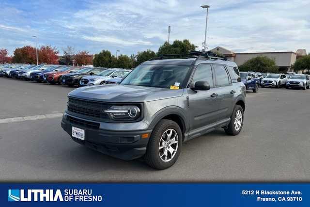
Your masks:
{"label": "large gray SUV with black roof rack in the foreground", "polygon": [[162,55],[120,84],[78,88],[68,95],[62,128],[87,147],[120,159],[144,156],[165,169],[182,144],[217,128],[242,129],[246,87],[235,63],[212,53]]}

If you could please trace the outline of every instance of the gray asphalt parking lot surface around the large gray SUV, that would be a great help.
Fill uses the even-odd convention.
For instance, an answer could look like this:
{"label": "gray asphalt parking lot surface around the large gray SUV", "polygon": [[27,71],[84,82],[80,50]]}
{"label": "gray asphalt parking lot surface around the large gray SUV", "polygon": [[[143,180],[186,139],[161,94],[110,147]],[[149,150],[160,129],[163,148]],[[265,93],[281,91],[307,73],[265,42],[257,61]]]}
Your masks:
{"label": "gray asphalt parking lot surface around the large gray SUV", "polygon": [[59,115],[73,89],[0,78],[0,120],[24,117],[0,122],[1,182],[310,181],[310,90],[248,92],[238,136],[217,130],[193,139],[175,165],[157,171],[73,142]]}

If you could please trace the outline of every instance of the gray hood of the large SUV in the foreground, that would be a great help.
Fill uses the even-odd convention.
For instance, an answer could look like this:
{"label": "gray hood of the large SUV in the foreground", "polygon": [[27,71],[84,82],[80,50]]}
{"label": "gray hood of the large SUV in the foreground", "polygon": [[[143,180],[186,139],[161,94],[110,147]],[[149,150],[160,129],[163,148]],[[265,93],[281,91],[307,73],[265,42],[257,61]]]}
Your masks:
{"label": "gray hood of the large SUV in the foreground", "polygon": [[69,96],[102,102],[147,102],[183,95],[183,89],[171,90],[133,85],[99,85],[78,88]]}

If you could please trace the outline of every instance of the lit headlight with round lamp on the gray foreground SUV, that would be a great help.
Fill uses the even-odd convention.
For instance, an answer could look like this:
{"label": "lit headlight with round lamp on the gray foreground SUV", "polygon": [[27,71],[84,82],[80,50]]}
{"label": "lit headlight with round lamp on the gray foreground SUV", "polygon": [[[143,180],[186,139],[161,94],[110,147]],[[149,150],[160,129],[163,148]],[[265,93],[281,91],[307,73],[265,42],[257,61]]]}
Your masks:
{"label": "lit headlight with round lamp on the gray foreground SUV", "polygon": [[137,106],[111,106],[104,112],[113,120],[136,120],[140,117],[140,108]]}

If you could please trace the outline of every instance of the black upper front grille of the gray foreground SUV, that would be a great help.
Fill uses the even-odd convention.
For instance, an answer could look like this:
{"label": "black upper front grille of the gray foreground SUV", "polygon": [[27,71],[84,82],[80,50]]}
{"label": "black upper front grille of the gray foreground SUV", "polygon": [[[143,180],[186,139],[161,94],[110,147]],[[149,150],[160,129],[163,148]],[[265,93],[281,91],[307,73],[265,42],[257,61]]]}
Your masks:
{"label": "black upper front grille of the gray foreground SUV", "polygon": [[109,115],[104,110],[109,109],[111,105],[89,100],[82,100],[69,97],[68,111],[78,113],[84,116],[94,117],[100,120],[108,120]]}

